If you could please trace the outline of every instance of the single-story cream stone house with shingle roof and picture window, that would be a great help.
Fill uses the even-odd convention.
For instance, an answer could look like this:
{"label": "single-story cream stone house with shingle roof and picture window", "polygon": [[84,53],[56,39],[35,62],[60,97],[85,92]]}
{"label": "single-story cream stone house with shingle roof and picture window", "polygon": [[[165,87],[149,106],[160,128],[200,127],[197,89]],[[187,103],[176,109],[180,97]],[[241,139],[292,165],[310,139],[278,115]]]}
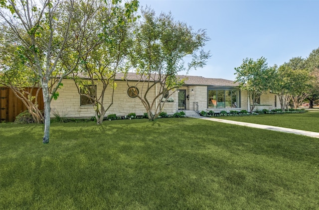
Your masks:
{"label": "single-story cream stone house with shingle roof and picture window", "polygon": [[[199,76],[179,76],[180,79],[187,78],[182,87],[170,96],[174,102],[165,102],[162,111],[172,114],[178,110],[195,110],[200,112],[202,110],[220,112],[222,110],[249,110],[250,103],[247,92],[241,91],[238,83],[224,79],[204,78]],[[136,113],[143,115],[146,112],[144,105],[139,98],[132,95],[132,87],[137,84],[137,77],[135,73],[128,75],[129,86],[126,81],[123,81],[123,75],[119,74],[116,77],[116,89],[114,91],[113,105],[108,109],[106,115],[116,114],[118,116],[128,115],[129,113]],[[89,118],[94,116],[94,109],[86,97],[78,94],[78,89],[71,79],[63,80],[63,87],[59,89],[59,97],[57,100],[51,102],[51,116],[58,114],[63,117],[79,117]],[[145,87],[142,83],[138,84],[137,90],[139,93],[145,92]],[[131,89],[130,89],[131,88]],[[150,99],[156,96],[159,88],[155,86],[152,92],[148,95]],[[108,106],[111,101],[112,88],[108,87],[104,96],[105,106]],[[97,96],[101,93],[99,83],[96,85]],[[170,93],[171,94],[171,93]],[[277,108],[278,98],[272,94],[267,93],[260,96],[258,104],[254,110],[274,109]],[[153,101],[153,100],[152,100]],[[156,102],[158,105],[160,99]],[[156,106],[155,105],[155,106]],[[280,105],[279,105],[280,106]]]}

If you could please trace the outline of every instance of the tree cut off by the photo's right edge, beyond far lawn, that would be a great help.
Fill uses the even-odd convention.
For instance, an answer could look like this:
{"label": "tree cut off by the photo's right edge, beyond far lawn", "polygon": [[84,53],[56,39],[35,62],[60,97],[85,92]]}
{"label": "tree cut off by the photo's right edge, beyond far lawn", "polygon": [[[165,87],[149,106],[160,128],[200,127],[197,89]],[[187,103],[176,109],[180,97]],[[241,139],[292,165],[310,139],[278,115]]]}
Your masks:
{"label": "tree cut off by the photo's right edge, beyond far lawn", "polygon": [[309,108],[314,107],[314,101],[319,100],[319,48],[314,49],[306,60],[307,69],[313,77],[311,93],[307,97]]}

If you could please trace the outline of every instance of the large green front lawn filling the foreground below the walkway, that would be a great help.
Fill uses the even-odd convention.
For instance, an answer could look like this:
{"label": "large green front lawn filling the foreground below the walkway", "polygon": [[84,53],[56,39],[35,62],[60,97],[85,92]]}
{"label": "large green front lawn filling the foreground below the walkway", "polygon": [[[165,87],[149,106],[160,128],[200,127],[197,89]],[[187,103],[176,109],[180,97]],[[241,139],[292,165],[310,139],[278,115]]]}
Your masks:
{"label": "large green front lawn filling the foreground below the walkway", "polygon": [[0,124],[0,209],[316,210],[319,140],[192,118]]}

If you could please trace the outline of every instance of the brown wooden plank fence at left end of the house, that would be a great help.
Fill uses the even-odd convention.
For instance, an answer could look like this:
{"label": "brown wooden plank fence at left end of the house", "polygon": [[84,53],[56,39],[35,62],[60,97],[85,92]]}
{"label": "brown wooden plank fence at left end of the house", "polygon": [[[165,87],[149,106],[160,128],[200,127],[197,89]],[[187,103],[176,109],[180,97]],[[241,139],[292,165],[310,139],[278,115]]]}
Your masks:
{"label": "brown wooden plank fence at left end of the house", "polygon": [[[31,91],[31,88],[24,88],[24,91]],[[36,91],[37,88],[34,88],[32,96],[35,96]],[[42,90],[38,94],[38,105],[40,110],[44,109]],[[13,122],[15,117],[26,109],[26,106],[11,89],[0,87],[0,122]]]}

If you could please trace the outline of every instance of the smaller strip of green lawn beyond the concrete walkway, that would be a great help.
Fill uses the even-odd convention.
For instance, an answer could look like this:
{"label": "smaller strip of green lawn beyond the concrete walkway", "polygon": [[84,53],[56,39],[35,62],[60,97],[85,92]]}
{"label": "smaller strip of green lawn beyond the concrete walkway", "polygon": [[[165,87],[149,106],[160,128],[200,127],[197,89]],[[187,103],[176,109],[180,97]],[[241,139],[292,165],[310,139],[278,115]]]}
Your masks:
{"label": "smaller strip of green lawn beyond the concrete walkway", "polygon": [[319,111],[247,116],[222,116],[218,118],[319,132]]}

